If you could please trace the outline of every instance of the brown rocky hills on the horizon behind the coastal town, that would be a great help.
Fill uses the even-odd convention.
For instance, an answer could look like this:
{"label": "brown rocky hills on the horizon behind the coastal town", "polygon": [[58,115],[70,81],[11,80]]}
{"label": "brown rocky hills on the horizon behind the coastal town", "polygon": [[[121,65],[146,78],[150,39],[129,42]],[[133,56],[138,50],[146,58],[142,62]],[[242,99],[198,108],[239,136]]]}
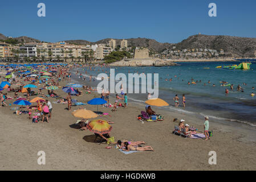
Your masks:
{"label": "brown rocky hills on the horizon behind the coastal town", "polygon": [[[0,40],[5,40],[7,37],[0,34]],[[19,43],[40,42],[38,39],[21,36],[14,38]],[[87,40],[65,40],[67,43],[72,44],[107,44],[111,40],[102,39],[97,42],[89,42]],[[116,45],[121,44],[122,39],[115,39]],[[177,44],[172,43],[159,43],[154,39],[147,38],[131,38],[128,40],[128,46],[147,47],[157,52],[162,52],[166,48],[176,46],[176,49],[190,49],[190,48],[207,48],[207,49],[224,49],[225,56],[229,57],[255,57],[256,51],[256,38],[241,38],[237,36],[225,35],[192,35],[188,39],[182,40]]]}

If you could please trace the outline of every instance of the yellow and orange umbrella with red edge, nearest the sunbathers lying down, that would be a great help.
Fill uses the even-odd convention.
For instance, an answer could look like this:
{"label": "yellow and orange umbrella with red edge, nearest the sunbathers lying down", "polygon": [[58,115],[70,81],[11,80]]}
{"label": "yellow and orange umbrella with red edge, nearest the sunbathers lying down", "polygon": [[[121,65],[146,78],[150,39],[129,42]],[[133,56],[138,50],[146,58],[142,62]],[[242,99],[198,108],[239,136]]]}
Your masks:
{"label": "yellow and orange umbrella with red edge, nearest the sunbathers lying down", "polygon": [[97,133],[97,134],[110,133],[110,131],[112,130],[112,126],[109,125],[107,121],[104,121],[101,119],[95,119],[93,121],[88,122],[86,127],[91,132]]}

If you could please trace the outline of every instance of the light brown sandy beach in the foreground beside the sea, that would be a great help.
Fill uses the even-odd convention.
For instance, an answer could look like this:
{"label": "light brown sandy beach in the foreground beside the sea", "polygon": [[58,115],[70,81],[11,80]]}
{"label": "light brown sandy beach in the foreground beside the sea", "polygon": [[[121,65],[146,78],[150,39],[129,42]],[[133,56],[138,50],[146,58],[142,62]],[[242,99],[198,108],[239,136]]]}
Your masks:
{"label": "light brown sandy beach in the foreground beside the sea", "polygon": [[[60,86],[66,85],[61,81]],[[87,83],[90,85],[90,83]],[[46,94],[46,90],[43,90]],[[67,94],[56,90],[62,97]],[[14,93],[8,93],[14,96]],[[19,96],[23,94],[19,93]],[[24,97],[24,96],[23,96]],[[34,98],[35,96],[32,96]],[[87,103],[99,94],[83,93],[72,96]],[[51,103],[54,98],[48,99]],[[7,105],[14,100],[7,100]],[[110,99],[113,103],[113,98]],[[173,135],[173,118],[185,119],[185,123],[203,131],[204,118],[198,119],[189,114],[173,113],[153,106],[156,113],[164,114],[164,121],[141,123],[137,115],[144,110],[145,104],[131,102],[128,95],[128,107],[111,109],[99,107],[109,116],[97,117],[115,122],[111,136],[115,140],[144,140],[155,151],[143,151],[125,155],[107,144],[94,143],[95,135],[89,130],[79,131],[70,127],[78,118],[68,111],[67,104],[53,104],[50,123],[32,123],[28,114],[17,115],[10,110],[12,106],[0,108],[0,169],[1,170],[255,170],[254,160],[256,142],[255,131],[239,129],[213,122],[210,118],[210,130],[213,137],[203,139],[183,138]],[[95,105],[86,105],[86,109],[96,111]],[[79,106],[72,107],[77,110]],[[46,165],[39,165],[38,151],[46,153]],[[216,151],[217,164],[210,165],[208,155]]]}

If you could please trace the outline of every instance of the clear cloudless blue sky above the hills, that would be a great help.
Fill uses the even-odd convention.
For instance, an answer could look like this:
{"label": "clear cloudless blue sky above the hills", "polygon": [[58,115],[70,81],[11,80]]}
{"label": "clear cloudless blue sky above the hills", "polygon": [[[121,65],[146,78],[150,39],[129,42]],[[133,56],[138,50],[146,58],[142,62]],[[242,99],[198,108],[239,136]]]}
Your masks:
{"label": "clear cloudless blue sky above the hills", "polygon": [[[38,3],[46,17],[37,16]],[[217,17],[208,5],[217,5]],[[0,33],[42,41],[150,38],[177,43],[190,35],[256,38],[255,0],[17,0],[0,4]]]}

